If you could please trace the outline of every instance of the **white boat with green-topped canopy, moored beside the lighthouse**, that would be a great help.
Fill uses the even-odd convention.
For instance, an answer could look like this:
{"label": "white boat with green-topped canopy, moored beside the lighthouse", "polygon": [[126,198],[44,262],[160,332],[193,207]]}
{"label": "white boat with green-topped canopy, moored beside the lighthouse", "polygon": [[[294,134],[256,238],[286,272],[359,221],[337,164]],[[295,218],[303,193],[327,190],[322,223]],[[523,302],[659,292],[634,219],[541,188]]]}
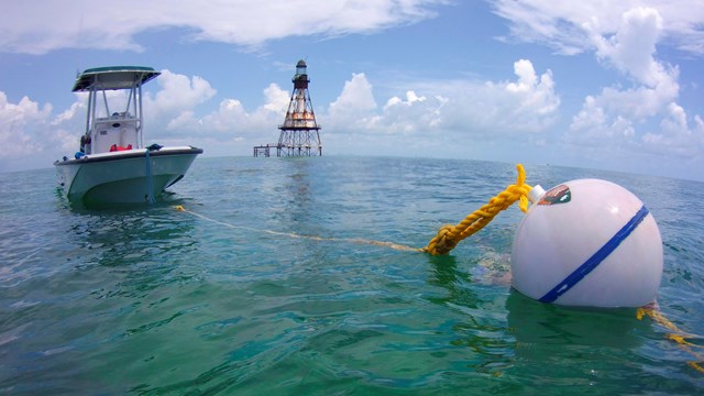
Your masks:
{"label": "white boat with green-topped canopy, moored beside the lighthouse", "polygon": [[73,91],[88,92],[86,131],[74,157],[54,162],[69,202],[155,202],[202,154],[186,145],[144,146],[142,86],[160,74],[151,67],[110,66],[78,75]]}

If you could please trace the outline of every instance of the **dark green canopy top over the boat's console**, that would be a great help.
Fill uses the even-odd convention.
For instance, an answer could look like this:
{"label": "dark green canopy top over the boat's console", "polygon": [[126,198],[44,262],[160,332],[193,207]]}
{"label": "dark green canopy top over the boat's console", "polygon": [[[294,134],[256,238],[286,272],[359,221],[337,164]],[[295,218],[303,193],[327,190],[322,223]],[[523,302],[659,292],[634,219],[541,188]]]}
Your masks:
{"label": "dark green canopy top over the boat's console", "polygon": [[85,92],[91,89],[130,89],[135,82],[144,82],[155,78],[161,73],[144,66],[108,66],[86,69],[78,75],[74,85],[74,92]]}

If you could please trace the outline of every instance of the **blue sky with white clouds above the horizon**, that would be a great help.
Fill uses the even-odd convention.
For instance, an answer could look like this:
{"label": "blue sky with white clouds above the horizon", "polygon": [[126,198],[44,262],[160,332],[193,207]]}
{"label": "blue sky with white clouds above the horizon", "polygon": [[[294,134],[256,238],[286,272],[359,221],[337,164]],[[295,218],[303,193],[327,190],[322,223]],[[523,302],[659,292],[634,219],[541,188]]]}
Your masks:
{"label": "blue sky with white clouds above the horizon", "polygon": [[703,0],[3,1],[0,172],[72,156],[77,73],[111,65],[162,72],[147,145],[252,155],[299,59],[323,155],[704,180]]}

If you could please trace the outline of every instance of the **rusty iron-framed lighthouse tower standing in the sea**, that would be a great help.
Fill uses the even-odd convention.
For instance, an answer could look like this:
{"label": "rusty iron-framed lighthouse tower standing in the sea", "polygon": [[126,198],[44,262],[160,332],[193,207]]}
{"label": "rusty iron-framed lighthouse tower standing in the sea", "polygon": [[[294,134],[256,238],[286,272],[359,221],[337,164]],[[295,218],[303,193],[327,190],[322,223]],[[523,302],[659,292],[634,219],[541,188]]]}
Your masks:
{"label": "rusty iron-framed lighthouse tower standing in the sea", "polygon": [[322,155],[320,125],[316,122],[310,94],[308,92],[308,73],[306,62],[296,64],[296,75],[292,79],[294,90],[290,95],[288,111],[284,124],[278,129],[282,134],[276,145],[277,156]]}

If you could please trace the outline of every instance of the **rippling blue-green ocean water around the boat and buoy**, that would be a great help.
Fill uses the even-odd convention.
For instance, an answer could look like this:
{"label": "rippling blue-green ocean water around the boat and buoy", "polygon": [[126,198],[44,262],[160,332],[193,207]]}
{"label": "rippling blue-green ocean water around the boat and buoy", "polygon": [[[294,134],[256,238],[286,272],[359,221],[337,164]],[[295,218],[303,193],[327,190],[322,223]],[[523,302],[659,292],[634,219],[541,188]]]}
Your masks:
{"label": "rippling blue-green ocean water around the boat and buoy", "polygon": [[634,309],[512,289],[517,206],[448,256],[359,241],[422,248],[515,183],[514,164],[198,158],[164,201],[106,210],[69,207],[46,168],[0,173],[0,393],[704,394],[688,365],[704,355],[704,184],[526,173],[644,200],[663,240],[660,311],[694,345]]}

